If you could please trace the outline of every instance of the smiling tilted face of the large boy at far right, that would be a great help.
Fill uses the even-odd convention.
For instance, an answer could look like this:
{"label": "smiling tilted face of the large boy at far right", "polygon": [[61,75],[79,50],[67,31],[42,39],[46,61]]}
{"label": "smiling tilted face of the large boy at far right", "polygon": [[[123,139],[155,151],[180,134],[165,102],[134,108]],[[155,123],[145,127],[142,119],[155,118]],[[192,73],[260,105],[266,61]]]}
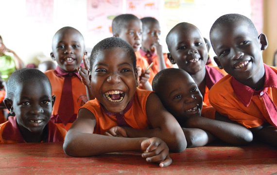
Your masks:
{"label": "smiling tilted face of the large boy at far right", "polygon": [[261,50],[267,45],[265,35],[261,36],[243,20],[219,25],[210,35],[216,63],[241,82],[260,78],[264,71]]}

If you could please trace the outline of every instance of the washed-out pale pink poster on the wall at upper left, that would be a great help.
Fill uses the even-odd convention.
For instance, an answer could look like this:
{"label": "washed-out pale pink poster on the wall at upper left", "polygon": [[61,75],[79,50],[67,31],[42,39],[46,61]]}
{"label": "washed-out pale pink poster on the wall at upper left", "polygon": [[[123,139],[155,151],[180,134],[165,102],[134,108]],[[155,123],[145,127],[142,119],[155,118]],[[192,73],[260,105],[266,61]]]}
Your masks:
{"label": "washed-out pale pink poster on the wall at upper left", "polygon": [[53,0],[26,0],[26,17],[35,23],[52,23]]}

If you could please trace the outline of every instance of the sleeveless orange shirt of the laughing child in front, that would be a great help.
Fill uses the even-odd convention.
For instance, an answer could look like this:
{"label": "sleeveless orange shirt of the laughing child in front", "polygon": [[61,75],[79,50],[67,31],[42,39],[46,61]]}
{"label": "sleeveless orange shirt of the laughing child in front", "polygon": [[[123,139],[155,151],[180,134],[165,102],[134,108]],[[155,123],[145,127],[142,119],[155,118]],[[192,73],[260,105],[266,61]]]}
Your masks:
{"label": "sleeveless orange shirt of the laughing child in front", "polygon": [[[123,114],[123,118],[130,127],[135,129],[146,129],[149,127],[146,115],[146,101],[150,93],[152,93],[150,90],[137,89],[134,98],[127,105],[129,107]],[[88,101],[82,108],[88,109],[95,116],[94,134],[104,135],[108,129],[119,125],[115,114],[106,111],[97,99]]]}

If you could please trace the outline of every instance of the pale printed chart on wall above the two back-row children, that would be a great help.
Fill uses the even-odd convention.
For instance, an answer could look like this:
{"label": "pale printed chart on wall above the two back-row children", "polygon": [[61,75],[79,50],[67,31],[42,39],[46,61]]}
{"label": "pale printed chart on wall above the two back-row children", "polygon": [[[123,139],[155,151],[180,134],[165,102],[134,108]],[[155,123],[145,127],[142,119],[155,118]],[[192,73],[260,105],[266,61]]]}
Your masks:
{"label": "pale printed chart on wall above the two back-row children", "polygon": [[154,17],[160,20],[162,0],[126,0],[126,13],[138,18]]}

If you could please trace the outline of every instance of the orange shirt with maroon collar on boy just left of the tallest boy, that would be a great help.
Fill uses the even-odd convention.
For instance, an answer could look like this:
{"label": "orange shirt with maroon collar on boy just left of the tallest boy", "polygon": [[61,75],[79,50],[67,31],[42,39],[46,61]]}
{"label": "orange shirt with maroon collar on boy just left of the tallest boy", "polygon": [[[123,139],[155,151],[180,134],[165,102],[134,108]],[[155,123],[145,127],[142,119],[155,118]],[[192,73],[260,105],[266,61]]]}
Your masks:
{"label": "orange shirt with maroon collar on boy just left of the tallest boy", "polygon": [[205,66],[205,94],[203,97],[203,107],[201,115],[206,118],[215,119],[215,109],[210,105],[208,100],[209,89],[218,82],[227,73],[224,70],[219,69],[216,66]]}

